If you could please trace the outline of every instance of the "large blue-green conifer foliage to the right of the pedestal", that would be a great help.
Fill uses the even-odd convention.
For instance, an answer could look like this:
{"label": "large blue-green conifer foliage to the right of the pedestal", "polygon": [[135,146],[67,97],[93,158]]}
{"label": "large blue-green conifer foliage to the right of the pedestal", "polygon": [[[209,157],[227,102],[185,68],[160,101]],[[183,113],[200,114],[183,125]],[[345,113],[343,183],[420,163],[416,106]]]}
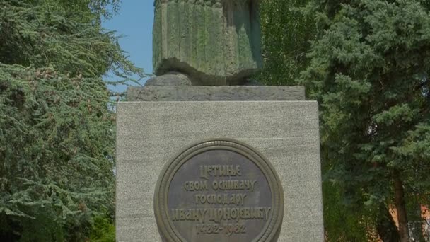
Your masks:
{"label": "large blue-green conifer foliage to the right of the pedestal", "polygon": [[320,102],[326,179],[343,204],[374,223],[382,216],[374,207],[393,204],[394,178],[406,200],[428,204],[428,9],[412,0],[313,1],[307,9],[325,28],[312,42],[301,83]]}

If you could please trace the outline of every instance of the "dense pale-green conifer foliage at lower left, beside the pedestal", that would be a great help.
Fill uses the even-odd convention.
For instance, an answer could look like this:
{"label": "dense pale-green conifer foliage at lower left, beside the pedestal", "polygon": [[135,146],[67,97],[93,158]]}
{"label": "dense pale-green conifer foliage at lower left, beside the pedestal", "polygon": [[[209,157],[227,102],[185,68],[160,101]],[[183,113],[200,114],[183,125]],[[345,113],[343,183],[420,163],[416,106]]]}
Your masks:
{"label": "dense pale-green conifer foliage at lower left, beside the pedestal", "polygon": [[0,80],[0,212],[29,232],[26,223],[46,226],[34,220],[68,228],[113,210],[115,117],[105,83],[4,64]]}

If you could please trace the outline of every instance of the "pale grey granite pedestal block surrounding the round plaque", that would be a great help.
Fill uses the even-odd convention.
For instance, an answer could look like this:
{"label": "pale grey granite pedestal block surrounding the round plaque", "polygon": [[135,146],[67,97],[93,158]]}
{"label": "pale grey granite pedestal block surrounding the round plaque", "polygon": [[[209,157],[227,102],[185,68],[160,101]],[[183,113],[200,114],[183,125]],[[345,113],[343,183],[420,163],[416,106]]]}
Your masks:
{"label": "pale grey granite pedestal block surrounding the round plaque", "polygon": [[277,171],[278,241],[324,241],[318,103],[308,101],[119,103],[117,241],[161,241],[153,197],[163,166],[187,146],[223,137],[252,146]]}

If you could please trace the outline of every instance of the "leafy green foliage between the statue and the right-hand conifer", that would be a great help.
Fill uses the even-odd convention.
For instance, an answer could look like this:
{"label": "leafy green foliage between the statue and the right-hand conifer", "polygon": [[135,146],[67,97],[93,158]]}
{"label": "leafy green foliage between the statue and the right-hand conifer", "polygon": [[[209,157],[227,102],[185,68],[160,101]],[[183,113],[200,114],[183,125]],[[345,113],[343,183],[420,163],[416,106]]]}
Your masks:
{"label": "leafy green foliage between the statue and the right-hand conifer", "polygon": [[307,66],[308,40],[315,37],[313,18],[300,10],[309,0],[261,2],[264,67],[255,78],[267,85],[294,85]]}

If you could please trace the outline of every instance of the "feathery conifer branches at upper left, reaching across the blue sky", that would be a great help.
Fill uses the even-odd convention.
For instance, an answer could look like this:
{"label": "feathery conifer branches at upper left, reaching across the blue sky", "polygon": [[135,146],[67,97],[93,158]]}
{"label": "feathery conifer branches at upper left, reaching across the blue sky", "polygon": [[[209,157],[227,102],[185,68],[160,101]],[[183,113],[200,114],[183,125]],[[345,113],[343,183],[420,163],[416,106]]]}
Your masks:
{"label": "feathery conifer branches at upper left, reaching across the blue sky", "polygon": [[[115,84],[137,81],[130,78],[133,74],[144,77],[142,70],[124,56],[115,32],[106,32],[100,24],[82,23],[82,19],[94,18],[89,10],[75,12],[63,7],[56,11],[50,7],[51,1],[42,3],[32,6],[9,0],[0,4],[4,9],[0,16],[1,63],[53,67],[72,76],[102,76],[112,71],[123,79]],[[71,6],[76,7],[74,4]],[[64,11],[74,14],[67,18]]]}

